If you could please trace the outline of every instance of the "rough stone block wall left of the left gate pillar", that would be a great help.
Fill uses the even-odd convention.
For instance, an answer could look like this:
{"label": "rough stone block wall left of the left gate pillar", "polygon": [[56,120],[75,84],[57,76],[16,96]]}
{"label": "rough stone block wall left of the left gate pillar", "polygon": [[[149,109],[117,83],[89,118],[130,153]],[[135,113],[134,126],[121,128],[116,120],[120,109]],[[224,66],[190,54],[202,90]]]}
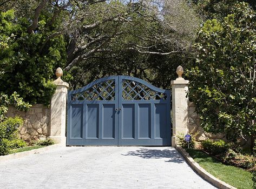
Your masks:
{"label": "rough stone block wall left of the left gate pillar", "polygon": [[24,124],[19,128],[19,135],[23,140],[45,139],[49,133],[50,109],[43,104],[33,105],[29,111],[17,111],[15,107],[9,107],[6,117],[21,116]]}

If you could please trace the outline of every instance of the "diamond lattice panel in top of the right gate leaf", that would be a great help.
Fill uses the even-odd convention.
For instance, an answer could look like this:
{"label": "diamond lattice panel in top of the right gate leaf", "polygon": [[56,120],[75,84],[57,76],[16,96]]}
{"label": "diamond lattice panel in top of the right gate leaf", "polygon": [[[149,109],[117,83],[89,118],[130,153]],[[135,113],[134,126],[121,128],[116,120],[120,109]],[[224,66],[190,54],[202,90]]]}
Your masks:
{"label": "diamond lattice panel in top of the right gate leaf", "polygon": [[123,100],[166,100],[165,93],[157,92],[146,85],[132,80],[123,79],[122,82],[122,99]]}

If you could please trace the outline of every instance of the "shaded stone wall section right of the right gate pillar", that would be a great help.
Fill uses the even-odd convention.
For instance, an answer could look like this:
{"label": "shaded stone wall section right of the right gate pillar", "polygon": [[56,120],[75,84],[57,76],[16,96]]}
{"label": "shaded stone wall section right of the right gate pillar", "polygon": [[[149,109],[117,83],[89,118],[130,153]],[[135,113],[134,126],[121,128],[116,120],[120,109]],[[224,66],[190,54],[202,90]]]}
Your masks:
{"label": "shaded stone wall section right of the right gate pillar", "polygon": [[205,139],[224,139],[224,134],[211,134],[202,129],[200,126],[200,118],[195,112],[195,104],[191,102],[189,102],[188,105],[188,132],[189,134],[193,134],[198,141]]}

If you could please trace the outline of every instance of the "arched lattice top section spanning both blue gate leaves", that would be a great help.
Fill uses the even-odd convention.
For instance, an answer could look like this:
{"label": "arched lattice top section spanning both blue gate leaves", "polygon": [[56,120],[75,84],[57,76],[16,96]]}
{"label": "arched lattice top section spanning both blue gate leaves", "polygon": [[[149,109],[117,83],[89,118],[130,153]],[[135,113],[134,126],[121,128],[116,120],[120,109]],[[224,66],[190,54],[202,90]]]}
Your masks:
{"label": "arched lattice top section spanning both blue gate leaves", "polygon": [[71,100],[114,100],[121,93],[123,100],[166,100],[170,91],[145,80],[130,76],[109,76],[97,79],[78,90],[69,91]]}

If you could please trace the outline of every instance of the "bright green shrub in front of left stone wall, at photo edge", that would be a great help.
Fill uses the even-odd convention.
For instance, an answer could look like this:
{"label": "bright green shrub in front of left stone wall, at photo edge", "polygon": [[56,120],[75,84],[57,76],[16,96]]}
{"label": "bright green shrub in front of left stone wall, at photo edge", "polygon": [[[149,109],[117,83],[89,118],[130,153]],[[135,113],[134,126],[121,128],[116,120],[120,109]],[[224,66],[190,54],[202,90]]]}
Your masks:
{"label": "bright green shrub in front of left stone wall, at photo edge", "polygon": [[0,156],[9,153],[11,147],[22,145],[17,140],[18,127],[23,124],[19,117],[7,118],[0,122]]}

